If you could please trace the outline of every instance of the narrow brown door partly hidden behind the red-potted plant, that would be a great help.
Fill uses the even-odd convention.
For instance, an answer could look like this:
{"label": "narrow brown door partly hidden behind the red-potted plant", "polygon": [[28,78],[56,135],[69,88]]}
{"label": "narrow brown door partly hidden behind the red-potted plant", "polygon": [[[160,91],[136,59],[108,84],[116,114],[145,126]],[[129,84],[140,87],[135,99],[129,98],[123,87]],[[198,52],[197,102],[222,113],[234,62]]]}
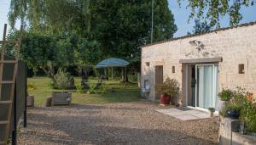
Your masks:
{"label": "narrow brown door partly hidden behind the red-potted plant", "polygon": [[[163,65],[156,65],[155,66],[155,85],[161,84],[164,82],[164,72],[163,72]],[[160,98],[160,92],[157,92],[157,89],[155,91],[155,99]]]}

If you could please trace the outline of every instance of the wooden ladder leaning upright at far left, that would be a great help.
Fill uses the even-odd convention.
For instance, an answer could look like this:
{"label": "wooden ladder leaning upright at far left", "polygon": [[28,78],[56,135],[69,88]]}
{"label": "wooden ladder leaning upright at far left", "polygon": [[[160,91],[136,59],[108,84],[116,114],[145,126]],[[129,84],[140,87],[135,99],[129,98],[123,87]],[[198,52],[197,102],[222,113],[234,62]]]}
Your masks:
{"label": "wooden ladder leaning upright at far left", "polygon": [[[0,145],[6,145],[8,144],[9,140],[9,130],[10,130],[10,124],[11,124],[11,116],[12,116],[12,107],[13,107],[13,99],[14,99],[14,93],[15,93],[15,80],[16,80],[16,74],[17,74],[17,68],[18,68],[18,57],[20,55],[20,43],[21,43],[21,31],[22,26],[20,26],[20,38],[19,41],[6,41],[6,32],[7,32],[7,25],[4,25],[3,29],[3,41],[0,41],[2,43],[2,49],[1,49],[1,59],[0,59],[0,104],[2,105],[8,105],[8,111],[6,112],[7,120],[0,119],[0,125],[3,125],[3,141],[0,141]],[[14,60],[7,60],[4,59],[5,53],[6,53],[6,45],[7,44],[14,44],[16,49],[14,50]],[[4,64],[14,64],[14,72],[12,76],[12,80],[9,81],[3,81],[3,65]],[[2,98],[2,87],[4,84],[9,84],[10,89],[10,96],[9,100],[4,100]]]}

